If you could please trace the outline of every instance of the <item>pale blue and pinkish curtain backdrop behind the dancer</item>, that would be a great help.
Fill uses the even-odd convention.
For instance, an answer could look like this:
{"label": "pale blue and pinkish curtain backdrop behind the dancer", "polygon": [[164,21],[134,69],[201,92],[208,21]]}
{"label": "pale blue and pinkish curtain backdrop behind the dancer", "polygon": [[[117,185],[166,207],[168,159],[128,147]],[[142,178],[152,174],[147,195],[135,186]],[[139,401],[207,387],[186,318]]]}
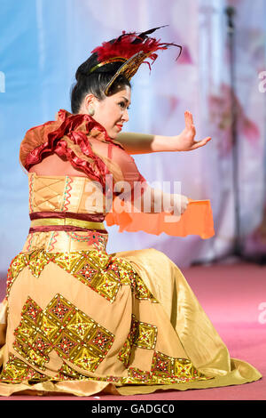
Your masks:
{"label": "pale blue and pinkish curtain backdrop behind the dancer", "polygon": [[[1,243],[0,271],[21,251],[29,218],[27,175],[19,164],[20,141],[29,128],[70,110],[75,69],[90,51],[121,30],[162,25],[165,42],[184,45],[162,52],[150,74],[142,66],[133,78],[128,131],[174,135],[192,111],[197,140],[207,147],[188,153],[134,156],[153,181],[181,181],[182,193],[210,199],[215,237],[149,236],[109,228],[108,252],[157,248],[179,266],[231,253],[236,214],[232,185],[231,81],[226,16],[236,15],[236,99],[239,133],[240,226],[246,254],[265,253],[266,2],[263,0],[0,0]],[[172,190],[173,191],[173,190]]]}

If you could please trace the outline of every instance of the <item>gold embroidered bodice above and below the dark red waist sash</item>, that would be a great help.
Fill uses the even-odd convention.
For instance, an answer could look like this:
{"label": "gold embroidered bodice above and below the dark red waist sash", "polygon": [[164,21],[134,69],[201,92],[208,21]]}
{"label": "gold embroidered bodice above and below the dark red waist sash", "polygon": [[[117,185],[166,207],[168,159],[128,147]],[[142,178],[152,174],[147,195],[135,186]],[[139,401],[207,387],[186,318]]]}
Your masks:
{"label": "gold embroidered bodice above and below the dark red waist sash", "polygon": [[[29,213],[106,214],[105,195],[88,177],[28,173]],[[50,253],[98,248],[106,251],[108,234],[94,230],[31,232],[22,252],[43,249]]]}

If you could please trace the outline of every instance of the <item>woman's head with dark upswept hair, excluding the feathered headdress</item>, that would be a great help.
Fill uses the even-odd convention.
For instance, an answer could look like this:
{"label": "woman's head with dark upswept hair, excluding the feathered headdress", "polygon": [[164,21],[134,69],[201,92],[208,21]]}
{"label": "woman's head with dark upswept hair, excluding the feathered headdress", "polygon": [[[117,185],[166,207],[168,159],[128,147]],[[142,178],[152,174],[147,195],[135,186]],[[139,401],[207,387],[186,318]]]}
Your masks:
{"label": "woman's head with dark upswept hair, excluding the feathered headdress", "polygon": [[71,109],[74,114],[90,114],[114,139],[121,131],[118,125],[129,120],[131,86],[125,76],[118,76],[106,96],[106,85],[121,63],[109,63],[90,73],[97,63],[97,54],[94,53],[77,69],[76,83],[71,89]]}

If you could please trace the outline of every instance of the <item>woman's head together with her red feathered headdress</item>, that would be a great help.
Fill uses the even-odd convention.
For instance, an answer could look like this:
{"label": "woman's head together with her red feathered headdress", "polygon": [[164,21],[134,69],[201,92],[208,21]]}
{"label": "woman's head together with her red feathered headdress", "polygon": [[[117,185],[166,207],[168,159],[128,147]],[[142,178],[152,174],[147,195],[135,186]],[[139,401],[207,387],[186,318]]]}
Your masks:
{"label": "woman's head together with her red feathered headdress", "polygon": [[151,68],[147,59],[154,62],[157,59],[156,52],[168,49],[170,45],[178,46],[180,53],[182,51],[180,45],[160,43],[160,40],[149,36],[157,29],[140,34],[123,31],[117,38],[95,48],[90,58],[76,71],[76,84],[71,90],[72,112],[90,114],[89,108],[92,109],[91,116],[114,138],[117,135],[115,126],[129,120],[129,80],[137,73],[139,66],[146,63]]}

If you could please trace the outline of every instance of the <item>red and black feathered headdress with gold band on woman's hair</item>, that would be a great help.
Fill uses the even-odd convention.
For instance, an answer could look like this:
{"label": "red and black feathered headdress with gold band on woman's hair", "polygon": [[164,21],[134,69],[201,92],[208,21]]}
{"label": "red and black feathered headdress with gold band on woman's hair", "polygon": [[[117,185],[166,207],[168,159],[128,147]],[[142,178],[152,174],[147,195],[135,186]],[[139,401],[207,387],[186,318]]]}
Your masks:
{"label": "red and black feathered headdress with gold band on woman's hair", "polygon": [[137,34],[136,32],[127,34],[123,31],[122,35],[118,38],[109,42],[104,42],[101,46],[98,46],[91,51],[92,53],[97,53],[98,64],[90,69],[89,74],[106,64],[121,62],[121,67],[116,71],[111,81],[106,85],[106,96],[110,91],[111,85],[118,76],[123,75],[130,80],[132,76],[137,73],[137,69],[142,63],[148,64],[151,69],[150,62],[145,60],[149,58],[152,60],[153,64],[154,60],[158,57],[155,52],[168,49],[168,46],[174,45],[180,48],[180,52],[176,60],[180,57],[182,52],[181,45],[160,43],[160,39],[157,40],[148,36],[157,29],[159,28],[153,28],[140,34]]}

